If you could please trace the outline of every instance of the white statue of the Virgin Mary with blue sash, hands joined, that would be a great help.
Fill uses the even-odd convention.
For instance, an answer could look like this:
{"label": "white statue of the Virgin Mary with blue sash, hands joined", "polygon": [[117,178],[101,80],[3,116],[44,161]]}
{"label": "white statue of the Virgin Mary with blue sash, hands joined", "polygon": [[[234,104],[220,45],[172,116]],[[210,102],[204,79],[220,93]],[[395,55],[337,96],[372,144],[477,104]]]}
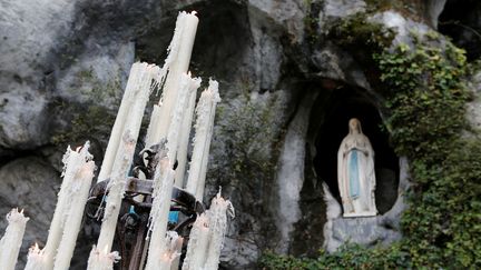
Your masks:
{"label": "white statue of the Virgin Mary with blue sash, hands joined", "polygon": [[374,199],[374,151],[362,132],[361,122],[349,122],[349,134],[337,152],[337,182],[344,209],[343,217],[376,216]]}

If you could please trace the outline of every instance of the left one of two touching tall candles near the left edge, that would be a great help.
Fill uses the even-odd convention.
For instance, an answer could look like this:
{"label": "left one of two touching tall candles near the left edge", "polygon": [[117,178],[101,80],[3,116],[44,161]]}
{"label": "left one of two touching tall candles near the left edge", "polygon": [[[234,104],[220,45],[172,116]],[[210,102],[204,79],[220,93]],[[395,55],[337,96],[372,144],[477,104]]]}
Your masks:
{"label": "left one of two touching tall candles near the left edge", "polygon": [[82,147],[82,151],[79,149],[72,151],[70,147],[68,147],[67,152],[63,154],[63,180],[58,193],[57,206],[50,223],[47,243],[43,248],[46,269],[53,269],[53,258],[62,237],[67,212],[71,206],[71,186],[78,170],[85,164],[86,160],[90,158],[90,153],[87,151],[89,146],[90,143],[87,141]]}

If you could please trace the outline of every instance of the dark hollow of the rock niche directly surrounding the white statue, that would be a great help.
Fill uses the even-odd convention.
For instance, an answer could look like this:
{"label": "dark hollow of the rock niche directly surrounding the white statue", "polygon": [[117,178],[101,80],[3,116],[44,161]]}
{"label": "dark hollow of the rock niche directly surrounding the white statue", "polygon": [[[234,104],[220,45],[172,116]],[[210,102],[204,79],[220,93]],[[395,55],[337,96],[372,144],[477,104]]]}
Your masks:
{"label": "dark hollow of the rock niche directly surrounding the white statue", "polygon": [[389,144],[389,136],[382,130],[382,118],[366,90],[343,86],[330,97],[321,97],[311,114],[316,122],[314,169],[320,181],[324,181],[334,198],[341,203],[337,186],[337,150],[349,132],[351,118],[361,121],[363,133],[374,149],[376,176],[375,201],[380,214],[389,211],[396,198],[399,186],[399,158]]}

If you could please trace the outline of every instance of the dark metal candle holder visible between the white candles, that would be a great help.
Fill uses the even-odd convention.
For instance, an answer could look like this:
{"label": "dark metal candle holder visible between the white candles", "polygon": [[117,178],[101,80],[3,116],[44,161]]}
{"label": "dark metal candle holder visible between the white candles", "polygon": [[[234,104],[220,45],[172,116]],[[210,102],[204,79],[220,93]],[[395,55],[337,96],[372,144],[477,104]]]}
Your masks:
{"label": "dark metal candle holder visible between the white candles", "polygon": [[[166,154],[165,140],[139,152],[141,163],[135,164],[134,177],[128,177],[125,196],[117,222],[115,240],[119,244],[122,270],[137,270],[145,263],[148,247],[148,220],[153,202],[153,178],[159,157]],[[174,164],[176,169],[177,162]],[[141,176],[144,174],[144,176]],[[145,178],[145,179],[143,179]],[[108,197],[109,179],[97,182],[90,190],[87,202],[87,218],[100,222]],[[174,187],[171,192],[168,230],[176,231],[185,241],[181,258],[185,257],[188,236],[198,214],[205,211],[204,204],[195,196]],[[181,214],[180,214],[181,213]]]}

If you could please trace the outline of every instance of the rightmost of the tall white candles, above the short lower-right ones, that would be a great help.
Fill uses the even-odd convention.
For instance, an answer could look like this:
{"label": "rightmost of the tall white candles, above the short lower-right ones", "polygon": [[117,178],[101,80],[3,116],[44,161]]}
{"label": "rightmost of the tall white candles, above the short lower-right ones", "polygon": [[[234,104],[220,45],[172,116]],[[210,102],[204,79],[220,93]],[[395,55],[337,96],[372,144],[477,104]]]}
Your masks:
{"label": "rightmost of the tall white candles, above the short lower-right ones", "polygon": [[210,80],[209,87],[202,93],[196,109],[196,133],[186,188],[188,192],[195,194],[197,200],[202,200],[204,196],[205,176],[207,172],[207,159],[214,128],[215,108],[219,101],[218,83],[217,81]]}

